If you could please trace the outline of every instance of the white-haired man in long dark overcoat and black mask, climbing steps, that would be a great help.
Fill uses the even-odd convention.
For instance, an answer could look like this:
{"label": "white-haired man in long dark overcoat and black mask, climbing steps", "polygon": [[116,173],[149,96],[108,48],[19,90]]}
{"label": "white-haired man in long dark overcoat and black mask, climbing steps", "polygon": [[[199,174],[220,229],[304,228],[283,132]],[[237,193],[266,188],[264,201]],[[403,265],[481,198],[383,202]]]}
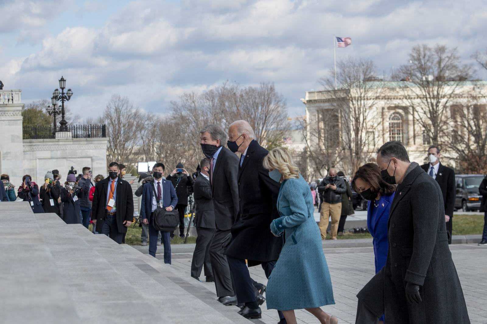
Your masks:
{"label": "white-haired man in long dark overcoat and black mask, climbing steps", "polygon": [[[241,315],[260,318],[248,267],[262,265],[268,278],[276,265],[282,248],[282,237],[273,235],[270,223],[279,218],[277,197],[280,184],[269,177],[262,166],[268,154],[257,141],[246,121],[236,121],[228,129],[228,148],[241,153],[238,176],[240,213],[231,229],[232,240],[225,250],[232,272],[239,304],[245,303]],[[281,320],[284,319],[280,312]]]}

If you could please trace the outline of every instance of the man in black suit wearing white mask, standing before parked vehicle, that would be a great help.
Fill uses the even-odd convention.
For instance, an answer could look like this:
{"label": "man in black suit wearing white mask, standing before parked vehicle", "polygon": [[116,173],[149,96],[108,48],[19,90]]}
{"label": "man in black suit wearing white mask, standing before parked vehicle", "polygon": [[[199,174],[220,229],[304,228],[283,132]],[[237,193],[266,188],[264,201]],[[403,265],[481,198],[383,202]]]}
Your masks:
{"label": "man in black suit wearing white mask, standing before parked vehicle", "polygon": [[455,171],[440,163],[440,149],[438,146],[431,145],[428,149],[428,159],[430,163],[421,165],[421,168],[426,171],[441,188],[443,194],[443,201],[445,203],[445,222],[447,231],[450,232],[448,244],[451,244],[451,235],[453,228],[453,208],[455,206]]}

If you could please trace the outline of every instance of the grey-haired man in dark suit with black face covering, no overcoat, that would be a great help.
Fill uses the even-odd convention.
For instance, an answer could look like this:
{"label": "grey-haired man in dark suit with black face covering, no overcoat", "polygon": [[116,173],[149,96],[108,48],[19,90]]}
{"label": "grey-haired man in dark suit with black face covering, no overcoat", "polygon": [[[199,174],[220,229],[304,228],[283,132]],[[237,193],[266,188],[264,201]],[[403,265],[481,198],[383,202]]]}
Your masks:
{"label": "grey-haired man in dark suit with black face covering, no overcoat", "polygon": [[239,158],[223,146],[227,136],[222,127],[205,126],[200,131],[201,148],[210,159],[211,198],[215,214],[215,234],[210,243],[210,260],[218,301],[225,306],[237,305],[230,269],[221,241],[230,234],[230,228],[239,212],[237,176]]}

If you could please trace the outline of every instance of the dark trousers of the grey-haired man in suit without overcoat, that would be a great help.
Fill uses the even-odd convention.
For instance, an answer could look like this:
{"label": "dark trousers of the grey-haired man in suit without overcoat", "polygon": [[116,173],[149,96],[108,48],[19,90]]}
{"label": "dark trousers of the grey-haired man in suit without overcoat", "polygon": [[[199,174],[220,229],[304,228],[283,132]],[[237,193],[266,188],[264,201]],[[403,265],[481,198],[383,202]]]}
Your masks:
{"label": "dark trousers of the grey-haired man in suit without overcoat", "polygon": [[222,240],[226,235],[230,234],[230,230],[222,231],[215,230],[213,238],[210,242],[210,261],[211,270],[213,270],[213,278],[215,279],[216,295],[218,297],[234,296],[234,290],[232,286],[232,278],[230,275],[230,268],[228,267],[228,261],[223,254]]}

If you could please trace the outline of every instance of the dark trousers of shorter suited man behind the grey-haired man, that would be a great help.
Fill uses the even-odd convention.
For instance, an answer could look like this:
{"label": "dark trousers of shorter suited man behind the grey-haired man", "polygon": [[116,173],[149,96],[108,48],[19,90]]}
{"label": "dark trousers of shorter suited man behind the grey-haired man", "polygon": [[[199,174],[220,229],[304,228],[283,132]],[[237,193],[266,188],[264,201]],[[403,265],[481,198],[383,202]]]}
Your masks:
{"label": "dark trousers of shorter suited man behind the grey-haired man", "polygon": [[199,277],[201,270],[205,268],[205,276],[212,277],[213,272],[211,270],[211,260],[210,260],[210,242],[213,234],[215,233],[214,228],[204,228],[197,227],[196,233],[196,247],[193,252],[193,260],[191,261],[191,276]]}

